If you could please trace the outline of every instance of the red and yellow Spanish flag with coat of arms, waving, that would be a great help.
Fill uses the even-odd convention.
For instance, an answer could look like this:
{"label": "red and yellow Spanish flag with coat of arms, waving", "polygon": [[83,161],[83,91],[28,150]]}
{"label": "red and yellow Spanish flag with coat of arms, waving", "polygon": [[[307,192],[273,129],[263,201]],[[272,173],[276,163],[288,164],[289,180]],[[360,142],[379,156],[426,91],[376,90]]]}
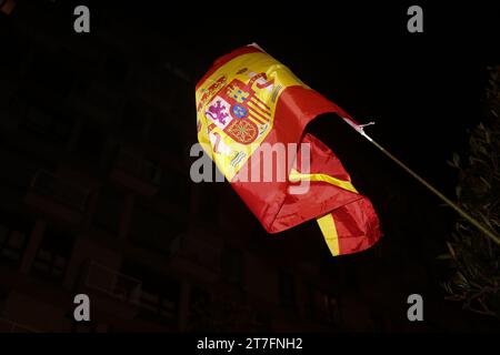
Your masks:
{"label": "red and yellow Spanish flag with coat of arms, waving", "polygon": [[316,220],[333,256],[380,239],[370,201],[333,152],[304,132],[322,113],[359,124],[287,67],[257,44],[240,48],[213,63],[196,101],[198,141],[267,232]]}

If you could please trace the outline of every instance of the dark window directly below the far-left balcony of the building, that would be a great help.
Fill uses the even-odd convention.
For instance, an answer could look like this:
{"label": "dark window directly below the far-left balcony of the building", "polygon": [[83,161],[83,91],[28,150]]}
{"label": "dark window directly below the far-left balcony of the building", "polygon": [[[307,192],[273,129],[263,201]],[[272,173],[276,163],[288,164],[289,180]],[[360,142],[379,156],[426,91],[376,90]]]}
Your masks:
{"label": "dark window directly below the far-left balcony of the building", "polygon": [[31,274],[62,283],[71,256],[74,236],[48,227],[31,265]]}

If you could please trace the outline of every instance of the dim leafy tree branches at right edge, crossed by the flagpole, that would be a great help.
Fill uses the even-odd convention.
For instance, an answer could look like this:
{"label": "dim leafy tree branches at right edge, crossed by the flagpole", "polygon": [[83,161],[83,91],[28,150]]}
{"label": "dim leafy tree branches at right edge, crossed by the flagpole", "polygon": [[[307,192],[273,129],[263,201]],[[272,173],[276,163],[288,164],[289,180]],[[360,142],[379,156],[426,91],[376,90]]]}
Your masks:
{"label": "dim leafy tree branches at right edge, crossed by the flagpole", "polygon": [[[468,156],[454,153],[457,204],[500,234],[500,67],[490,68],[483,122],[470,132]],[[500,317],[500,246],[467,223],[457,221],[448,252],[439,258],[451,274],[442,283],[447,300],[464,310]]]}

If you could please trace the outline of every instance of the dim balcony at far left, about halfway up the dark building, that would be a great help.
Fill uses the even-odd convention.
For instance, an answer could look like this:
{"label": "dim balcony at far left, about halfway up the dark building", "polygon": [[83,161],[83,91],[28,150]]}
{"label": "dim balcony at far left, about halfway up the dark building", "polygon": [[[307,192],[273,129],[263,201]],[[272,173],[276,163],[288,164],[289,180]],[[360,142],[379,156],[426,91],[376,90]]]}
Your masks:
{"label": "dim balcony at far left, about halfway up the dark building", "polygon": [[26,195],[34,211],[70,224],[83,221],[91,191],[47,171],[38,171]]}

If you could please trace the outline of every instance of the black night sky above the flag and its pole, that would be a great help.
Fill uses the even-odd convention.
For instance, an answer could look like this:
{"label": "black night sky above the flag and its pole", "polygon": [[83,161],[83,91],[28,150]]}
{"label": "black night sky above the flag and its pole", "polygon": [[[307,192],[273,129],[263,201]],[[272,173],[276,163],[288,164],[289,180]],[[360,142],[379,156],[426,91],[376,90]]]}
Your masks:
{"label": "black night sky above the flag and its pole", "polygon": [[[409,33],[407,8],[308,2],[244,11],[209,4],[121,11],[133,13],[130,27],[144,33],[142,45],[154,60],[176,61],[193,82],[219,55],[257,42],[360,122],[374,120],[368,132],[376,140],[447,190],[454,172],[446,160],[463,151],[466,130],[479,122],[487,67],[499,60],[498,12],[426,6],[424,32]],[[97,20],[99,26],[99,13]],[[148,31],[163,41],[148,41]]]}

